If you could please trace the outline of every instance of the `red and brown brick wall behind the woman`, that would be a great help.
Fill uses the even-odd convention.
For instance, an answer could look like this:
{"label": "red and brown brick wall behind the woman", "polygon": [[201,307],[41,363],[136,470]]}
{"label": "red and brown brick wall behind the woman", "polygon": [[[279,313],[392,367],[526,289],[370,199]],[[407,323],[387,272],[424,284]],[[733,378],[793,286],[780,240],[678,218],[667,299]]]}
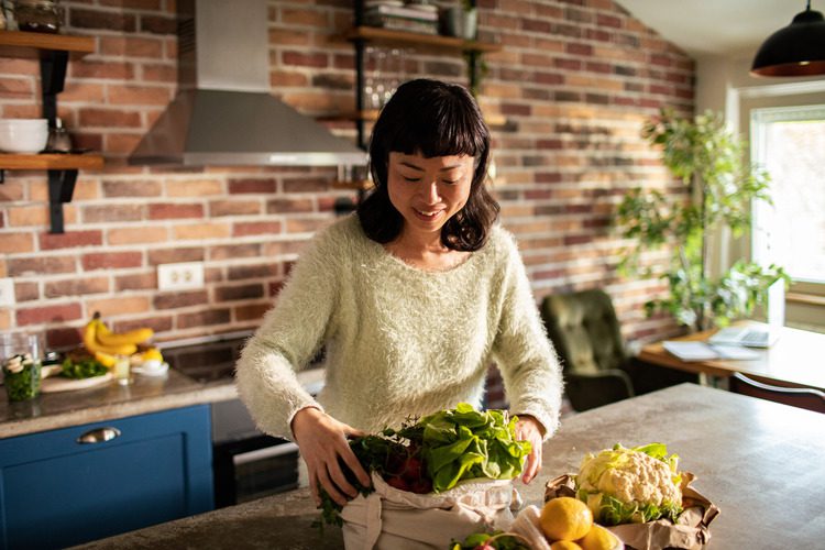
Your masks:
{"label": "red and brown brick wall behind the woman", "polygon": [[[158,340],[254,328],[349,191],[331,187],[330,168],[127,166],[174,97],[174,1],[61,3],[67,32],[95,36],[96,51],[70,62],[59,116],[107,166],[80,174],[65,234],[48,233],[45,174],[6,173],[0,276],[13,278],[16,304],[0,309],[0,330],[46,331],[51,345],[69,345],[95,311],[117,329],[152,326]],[[610,0],[479,6],[482,35],[504,46],[485,57],[481,99],[503,117],[494,190],[537,298],[605,287],[628,338],[672,332],[669,319],[641,311],[663,286],[616,275],[626,243],[610,218],[629,187],[672,185],[639,130],[660,107],[692,112],[692,61]],[[351,16],[345,0],[271,0],[273,94],[309,116],[352,110],[353,51],[338,37]],[[408,51],[404,66],[407,77],[464,81],[460,55]],[[38,90],[34,62],[0,58],[2,117],[38,116]],[[330,128],[354,140],[352,123]],[[205,263],[206,288],[157,290],[158,264],[189,261]]]}

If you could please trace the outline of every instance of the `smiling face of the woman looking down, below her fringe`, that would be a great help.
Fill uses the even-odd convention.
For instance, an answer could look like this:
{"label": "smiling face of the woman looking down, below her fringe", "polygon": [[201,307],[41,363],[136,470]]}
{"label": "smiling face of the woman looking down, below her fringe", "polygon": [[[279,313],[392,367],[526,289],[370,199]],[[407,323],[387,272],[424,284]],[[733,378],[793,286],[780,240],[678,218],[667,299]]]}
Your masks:
{"label": "smiling face of the woman looking down, below her fringe", "polygon": [[424,157],[389,153],[387,193],[404,217],[404,231],[441,233],[470,197],[473,157],[466,155]]}

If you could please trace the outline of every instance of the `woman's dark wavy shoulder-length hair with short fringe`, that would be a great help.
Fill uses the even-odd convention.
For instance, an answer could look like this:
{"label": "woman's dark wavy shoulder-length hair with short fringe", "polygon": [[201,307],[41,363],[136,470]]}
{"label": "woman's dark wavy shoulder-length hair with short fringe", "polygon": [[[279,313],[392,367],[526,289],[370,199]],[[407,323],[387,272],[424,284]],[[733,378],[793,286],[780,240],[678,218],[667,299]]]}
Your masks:
{"label": "woman's dark wavy shoulder-length hair with short fringe", "polygon": [[366,235],[388,243],[404,227],[404,218],[389,201],[389,153],[474,157],[473,180],[466,205],[441,229],[441,242],[451,250],[484,246],[498,218],[498,202],[484,185],[490,163],[490,129],[475,99],[461,86],[439,80],[404,82],[384,106],[370,141],[370,172],[375,189],[358,207]]}

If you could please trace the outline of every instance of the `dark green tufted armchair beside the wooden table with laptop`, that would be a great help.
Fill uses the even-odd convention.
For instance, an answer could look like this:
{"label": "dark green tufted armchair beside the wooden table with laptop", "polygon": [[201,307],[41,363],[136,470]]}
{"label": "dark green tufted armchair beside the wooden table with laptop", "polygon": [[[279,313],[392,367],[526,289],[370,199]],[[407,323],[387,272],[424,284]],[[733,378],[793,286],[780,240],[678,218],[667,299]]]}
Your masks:
{"label": "dark green tufted armchair beside the wooden table with laptop", "polygon": [[694,374],[642,363],[628,355],[610,297],[600,289],[551,295],[541,316],[564,373],[574,410],[587,410],[682,382]]}

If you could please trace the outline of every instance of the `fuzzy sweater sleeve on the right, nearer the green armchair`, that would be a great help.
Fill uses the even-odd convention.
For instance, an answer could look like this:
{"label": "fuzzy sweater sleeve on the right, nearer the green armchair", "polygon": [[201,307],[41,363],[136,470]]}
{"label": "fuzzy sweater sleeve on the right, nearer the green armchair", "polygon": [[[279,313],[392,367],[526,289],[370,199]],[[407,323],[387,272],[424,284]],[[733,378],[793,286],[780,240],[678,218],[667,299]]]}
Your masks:
{"label": "fuzzy sweater sleeve on the right, nearer the green armchair", "polygon": [[539,316],[521,257],[507,235],[504,300],[494,356],[504,380],[510,411],[531,415],[544,427],[544,439],[559,427],[561,366]]}

